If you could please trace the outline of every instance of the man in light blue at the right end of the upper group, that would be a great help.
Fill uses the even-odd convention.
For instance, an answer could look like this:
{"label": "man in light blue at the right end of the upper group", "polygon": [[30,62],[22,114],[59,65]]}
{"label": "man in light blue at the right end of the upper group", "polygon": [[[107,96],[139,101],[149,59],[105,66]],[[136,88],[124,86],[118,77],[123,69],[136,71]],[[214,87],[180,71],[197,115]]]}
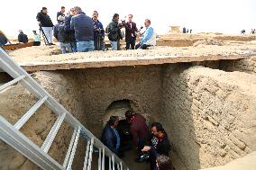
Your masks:
{"label": "man in light blue at the right end of the upper group", "polygon": [[142,33],[142,40],[135,46],[135,49],[147,49],[156,45],[156,33],[151,27],[151,20],[146,19],[144,22],[146,31]]}

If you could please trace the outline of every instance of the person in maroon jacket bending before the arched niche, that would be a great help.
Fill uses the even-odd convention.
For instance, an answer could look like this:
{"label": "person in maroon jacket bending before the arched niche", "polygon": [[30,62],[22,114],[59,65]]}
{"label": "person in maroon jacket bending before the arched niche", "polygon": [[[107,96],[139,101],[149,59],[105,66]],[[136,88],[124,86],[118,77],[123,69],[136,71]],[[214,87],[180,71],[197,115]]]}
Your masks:
{"label": "person in maroon jacket bending before the arched niche", "polygon": [[146,119],[139,113],[133,111],[125,112],[127,122],[131,124],[131,134],[133,136],[133,145],[136,146],[138,157],[136,162],[140,162],[142,156],[142,148],[145,145],[146,140],[149,138],[149,130],[146,124]]}

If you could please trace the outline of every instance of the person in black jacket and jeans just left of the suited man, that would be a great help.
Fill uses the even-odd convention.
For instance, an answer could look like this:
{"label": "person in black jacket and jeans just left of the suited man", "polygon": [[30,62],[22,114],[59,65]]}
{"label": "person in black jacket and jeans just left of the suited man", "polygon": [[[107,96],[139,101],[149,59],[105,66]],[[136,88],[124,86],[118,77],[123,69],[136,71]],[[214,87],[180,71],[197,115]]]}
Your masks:
{"label": "person in black jacket and jeans just left of the suited man", "polygon": [[108,40],[110,40],[112,50],[117,50],[117,44],[120,40],[123,40],[121,26],[118,24],[119,14],[114,13],[112,22],[110,22],[106,28],[108,34]]}

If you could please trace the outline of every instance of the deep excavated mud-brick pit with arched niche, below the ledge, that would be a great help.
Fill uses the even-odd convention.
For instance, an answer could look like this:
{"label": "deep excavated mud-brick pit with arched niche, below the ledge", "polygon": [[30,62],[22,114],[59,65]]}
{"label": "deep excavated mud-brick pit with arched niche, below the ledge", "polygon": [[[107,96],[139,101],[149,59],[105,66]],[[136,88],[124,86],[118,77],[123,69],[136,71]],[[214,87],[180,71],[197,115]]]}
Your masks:
{"label": "deep excavated mud-brick pit with arched niche, below the ledge", "polygon": [[[122,119],[130,108],[148,123],[160,121],[169,135],[170,157],[177,169],[199,169],[224,165],[256,149],[251,122],[256,111],[256,76],[245,68],[242,72],[219,70],[224,64],[101,67],[41,71],[32,76],[98,138],[109,116]],[[22,85],[11,86],[0,93],[0,115],[14,123],[36,101]],[[55,120],[42,106],[22,132],[41,146]],[[64,124],[50,148],[59,163],[65,158],[71,134],[72,129]],[[83,166],[85,144],[79,140],[73,169]],[[133,157],[135,149],[123,157],[131,169],[149,169],[149,164],[133,163]],[[4,170],[38,168],[3,142],[0,162]]]}

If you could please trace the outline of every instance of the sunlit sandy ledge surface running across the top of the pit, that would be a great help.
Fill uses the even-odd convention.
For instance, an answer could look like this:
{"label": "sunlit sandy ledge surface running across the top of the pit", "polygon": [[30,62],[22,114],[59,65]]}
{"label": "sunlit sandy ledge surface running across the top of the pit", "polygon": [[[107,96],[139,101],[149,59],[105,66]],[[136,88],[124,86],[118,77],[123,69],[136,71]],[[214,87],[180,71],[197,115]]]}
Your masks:
{"label": "sunlit sandy ledge surface running across the top of the pit", "polygon": [[[204,43],[204,42],[203,42]],[[33,62],[70,62],[85,58],[114,58],[114,57],[144,57],[144,56],[208,56],[208,55],[256,55],[255,44],[229,44],[224,46],[197,44],[197,47],[154,47],[148,50],[121,50],[121,51],[93,51],[87,53],[72,53],[54,55],[59,53],[58,46],[29,47],[10,51],[10,55],[19,64]]]}

